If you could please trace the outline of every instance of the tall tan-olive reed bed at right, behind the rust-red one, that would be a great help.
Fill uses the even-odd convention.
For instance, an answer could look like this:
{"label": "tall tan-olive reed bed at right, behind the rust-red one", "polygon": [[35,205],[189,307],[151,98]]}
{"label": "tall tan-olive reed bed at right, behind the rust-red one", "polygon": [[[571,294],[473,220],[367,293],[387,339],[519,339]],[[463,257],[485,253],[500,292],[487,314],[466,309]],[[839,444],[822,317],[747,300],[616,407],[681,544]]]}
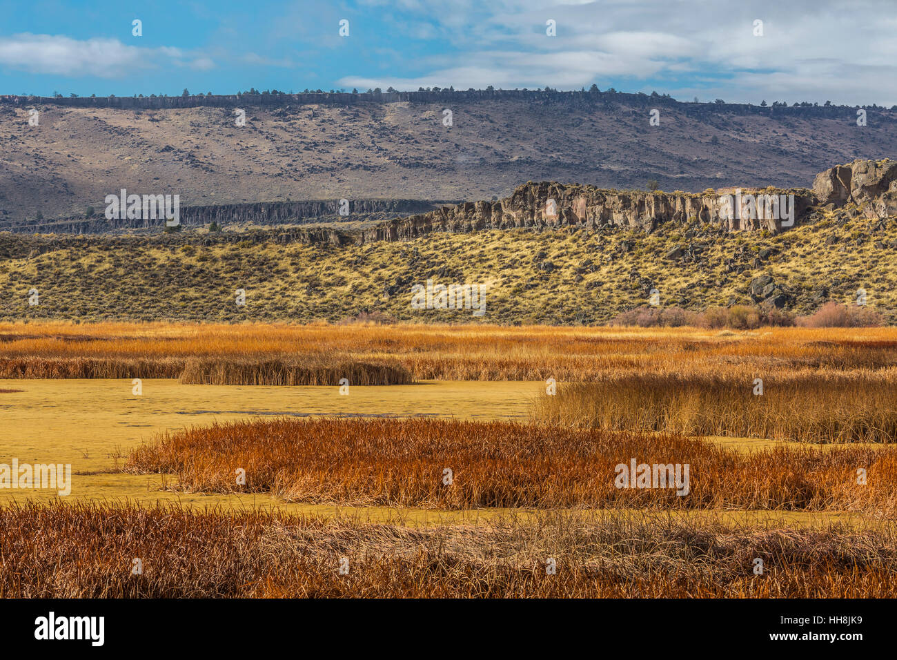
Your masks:
{"label": "tall tan-olive reed bed at right, behind the rust-red one", "polygon": [[[765,374],[763,374],[765,375]],[[689,436],[737,436],[806,443],[893,443],[893,370],[752,374],[628,375],[564,383],[533,406],[537,423]]]}

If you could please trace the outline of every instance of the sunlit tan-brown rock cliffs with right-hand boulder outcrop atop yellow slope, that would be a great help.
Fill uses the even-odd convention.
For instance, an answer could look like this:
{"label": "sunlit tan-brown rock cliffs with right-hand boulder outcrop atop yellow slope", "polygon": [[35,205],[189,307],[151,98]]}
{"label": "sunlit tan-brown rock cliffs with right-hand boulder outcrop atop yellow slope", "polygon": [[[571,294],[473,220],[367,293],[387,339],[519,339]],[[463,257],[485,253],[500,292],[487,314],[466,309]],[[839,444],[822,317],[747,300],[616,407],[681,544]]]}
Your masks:
{"label": "sunlit tan-brown rock cliffs with right-hand boulder outcrop atop yellow slope", "polygon": [[[736,196],[736,192],[740,195]],[[790,196],[793,195],[793,207]],[[770,214],[761,199],[788,198]],[[740,204],[739,204],[740,202]],[[753,211],[752,211],[753,205]],[[429,213],[396,218],[362,233],[363,241],[406,241],[431,232],[475,232],[513,227],[547,228],[613,225],[651,232],[660,223],[693,219],[719,229],[781,232],[806,222],[811,207],[832,205],[867,217],[897,216],[897,162],[854,161],[820,172],[814,189],[718,189],[713,192],[666,193],[603,190],[561,183],[520,186],[509,198],[466,202]],[[740,212],[732,213],[737,208]],[[788,209],[788,215],[782,209]],[[793,214],[792,214],[793,211]],[[793,215],[793,218],[790,217]],[[793,222],[792,222],[793,220]]]}

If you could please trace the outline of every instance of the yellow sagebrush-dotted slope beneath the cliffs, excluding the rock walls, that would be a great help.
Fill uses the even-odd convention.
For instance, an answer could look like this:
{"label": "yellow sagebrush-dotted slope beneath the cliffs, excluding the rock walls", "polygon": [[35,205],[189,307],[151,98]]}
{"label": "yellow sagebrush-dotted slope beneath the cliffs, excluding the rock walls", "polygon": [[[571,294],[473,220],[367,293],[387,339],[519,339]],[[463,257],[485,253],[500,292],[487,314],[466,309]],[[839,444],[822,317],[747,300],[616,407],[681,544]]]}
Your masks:
{"label": "yellow sagebrush-dotted slope beneath the cliffs, excluding the rock walls", "polygon": [[[595,323],[646,304],[771,299],[795,312],[851,302],[895,321],[897,218],[823,214],[783,233],[699,221],[653,233],[602,225],[430,233],[411,241],[308,242],[277,231],[0,236],[0,318]],[[415,310],[412,286],[483,284],[482,317]],[[39,304],[28,304],[32,288]],[[245,306],[235,304],[246,291]]]}

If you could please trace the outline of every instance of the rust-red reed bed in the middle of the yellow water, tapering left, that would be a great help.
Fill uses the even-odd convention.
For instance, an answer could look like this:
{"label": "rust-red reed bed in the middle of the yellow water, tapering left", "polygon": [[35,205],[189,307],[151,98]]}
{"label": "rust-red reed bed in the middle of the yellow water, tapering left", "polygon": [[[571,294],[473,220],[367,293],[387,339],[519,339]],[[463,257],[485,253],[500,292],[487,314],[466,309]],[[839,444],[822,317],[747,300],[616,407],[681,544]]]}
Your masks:
{"label": "rust-red reed bed in the middle of the yellow water, tapering left", "polygon": [[[687,464],[688,488],[674,488],[672,474],[654,488],[619,488],[616,466],[633,459],[671,469]],[[865,485],[858,484],[860,468]],[[897,513],[897,447],[738,454],[672,434],[509,422],[246,420],[156,436],[121,469],[175,475],[166,485],[173,490],[264,492],[316,504]],[[236,478],[240,469],[245,484]]]}

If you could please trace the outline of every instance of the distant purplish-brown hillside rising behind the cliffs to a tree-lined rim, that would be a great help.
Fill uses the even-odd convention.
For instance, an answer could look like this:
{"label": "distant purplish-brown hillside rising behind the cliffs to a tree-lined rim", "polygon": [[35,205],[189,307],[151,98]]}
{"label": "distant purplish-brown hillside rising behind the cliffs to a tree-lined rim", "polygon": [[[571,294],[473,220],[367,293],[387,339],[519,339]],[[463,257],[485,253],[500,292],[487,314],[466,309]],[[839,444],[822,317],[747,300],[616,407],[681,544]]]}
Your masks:
{"label": "distant purplish-brown hillside rising behind the cliffs to a tree-lined rim", "polygon": [[807,187],[831,163],[897,153],[895,110],[870,108],[858,127],[848,107],[614,92],[3,97],[0,119],[0,228],[101,212],[122,188],[179,194],[183,207],[491,199],[527,180],[700,192]]}

